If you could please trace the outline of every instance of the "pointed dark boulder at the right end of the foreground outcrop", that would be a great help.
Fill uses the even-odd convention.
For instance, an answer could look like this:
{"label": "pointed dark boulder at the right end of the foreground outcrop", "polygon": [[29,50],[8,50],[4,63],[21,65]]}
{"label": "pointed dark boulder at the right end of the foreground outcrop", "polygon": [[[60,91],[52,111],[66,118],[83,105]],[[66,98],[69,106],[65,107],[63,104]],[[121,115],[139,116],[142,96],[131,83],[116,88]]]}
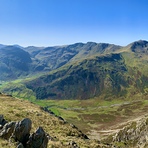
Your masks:
{"label": "pointed dark boulder at the right end of the foreground outcrop", "polygon": [[26,148],[47,148],[48,135],[42,127],[39,127],[35,133],[29,137]]}

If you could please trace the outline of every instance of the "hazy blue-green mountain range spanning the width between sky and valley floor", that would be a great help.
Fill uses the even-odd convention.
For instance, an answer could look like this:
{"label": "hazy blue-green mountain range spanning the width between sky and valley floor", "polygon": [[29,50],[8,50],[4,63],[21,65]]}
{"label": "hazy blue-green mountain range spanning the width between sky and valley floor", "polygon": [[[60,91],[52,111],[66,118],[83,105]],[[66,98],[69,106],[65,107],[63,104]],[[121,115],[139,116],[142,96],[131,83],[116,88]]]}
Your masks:
{"label": "hazy blue-green mountain range spanning the width between sky and valley floor", "polygon": [[148,41],[124,47],[95,42],[26,48],[0,45],[0,73],[1,91],[22,92],[26,98],[28,91],[37,99],[147,95]]}

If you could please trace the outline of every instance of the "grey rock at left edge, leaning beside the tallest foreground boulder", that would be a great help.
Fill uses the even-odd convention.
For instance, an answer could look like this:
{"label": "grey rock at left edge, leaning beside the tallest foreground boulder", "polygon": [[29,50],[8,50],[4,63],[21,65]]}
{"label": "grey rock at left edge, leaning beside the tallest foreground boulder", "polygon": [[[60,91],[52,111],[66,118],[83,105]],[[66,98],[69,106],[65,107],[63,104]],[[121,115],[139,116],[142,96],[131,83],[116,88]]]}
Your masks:
{"label": "grey rock at left edge, leaning beside the tallest foreground boulder", "polygon": [[9,139],[13,134],[14,127],[16,122],[6,123],[3,128],[0,130],[0,137],[4,139]]}

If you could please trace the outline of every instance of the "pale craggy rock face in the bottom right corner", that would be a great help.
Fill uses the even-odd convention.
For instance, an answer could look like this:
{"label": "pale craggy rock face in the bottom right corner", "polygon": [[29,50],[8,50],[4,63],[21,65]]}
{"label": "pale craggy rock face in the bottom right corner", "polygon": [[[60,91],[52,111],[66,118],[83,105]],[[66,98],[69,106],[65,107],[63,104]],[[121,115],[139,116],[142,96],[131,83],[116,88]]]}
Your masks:
{"label": "pale craggy rock face in the bottom right corner", "polygon": [[132,122],[124,127],[116,133],[113,142],[124,143],[134,148],[148,147],[148,118]]}

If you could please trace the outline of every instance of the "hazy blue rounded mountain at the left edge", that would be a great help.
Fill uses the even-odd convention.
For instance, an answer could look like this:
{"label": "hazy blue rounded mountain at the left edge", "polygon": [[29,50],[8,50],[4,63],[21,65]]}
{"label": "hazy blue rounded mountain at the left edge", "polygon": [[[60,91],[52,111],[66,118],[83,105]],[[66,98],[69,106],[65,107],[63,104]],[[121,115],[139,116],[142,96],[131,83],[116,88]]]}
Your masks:
{"label": "hazy blue rounded mountain at the left edge", "polygon": [[29,53],[15,46],[0,49],[0,80],[16,79],[29,72],[32,60]]}

